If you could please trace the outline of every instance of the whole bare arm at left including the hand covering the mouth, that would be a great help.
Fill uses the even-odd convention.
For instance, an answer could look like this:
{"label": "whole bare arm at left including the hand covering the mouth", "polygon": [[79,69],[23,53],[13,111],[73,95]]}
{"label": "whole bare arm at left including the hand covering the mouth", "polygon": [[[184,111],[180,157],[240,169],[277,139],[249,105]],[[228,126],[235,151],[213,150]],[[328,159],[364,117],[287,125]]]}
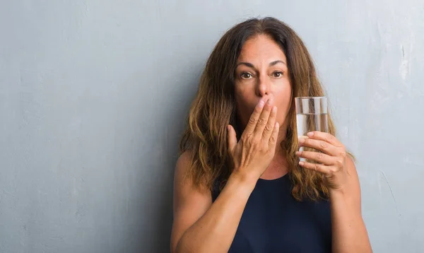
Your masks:
{"label": "whole bare arm at left including the hand covering the mouth", "polygon": [[191,161],[187,153],[179,158],[174,183],[172,253],[228,252],[247,199],[275,154],[279,130],[276,112],[272,100],[266,105],[260,101],[238,142],[235,130],[228,126],[228,150],[235,167],[213,204],[210,191],[200,192],[192,182],[183,181]]}

